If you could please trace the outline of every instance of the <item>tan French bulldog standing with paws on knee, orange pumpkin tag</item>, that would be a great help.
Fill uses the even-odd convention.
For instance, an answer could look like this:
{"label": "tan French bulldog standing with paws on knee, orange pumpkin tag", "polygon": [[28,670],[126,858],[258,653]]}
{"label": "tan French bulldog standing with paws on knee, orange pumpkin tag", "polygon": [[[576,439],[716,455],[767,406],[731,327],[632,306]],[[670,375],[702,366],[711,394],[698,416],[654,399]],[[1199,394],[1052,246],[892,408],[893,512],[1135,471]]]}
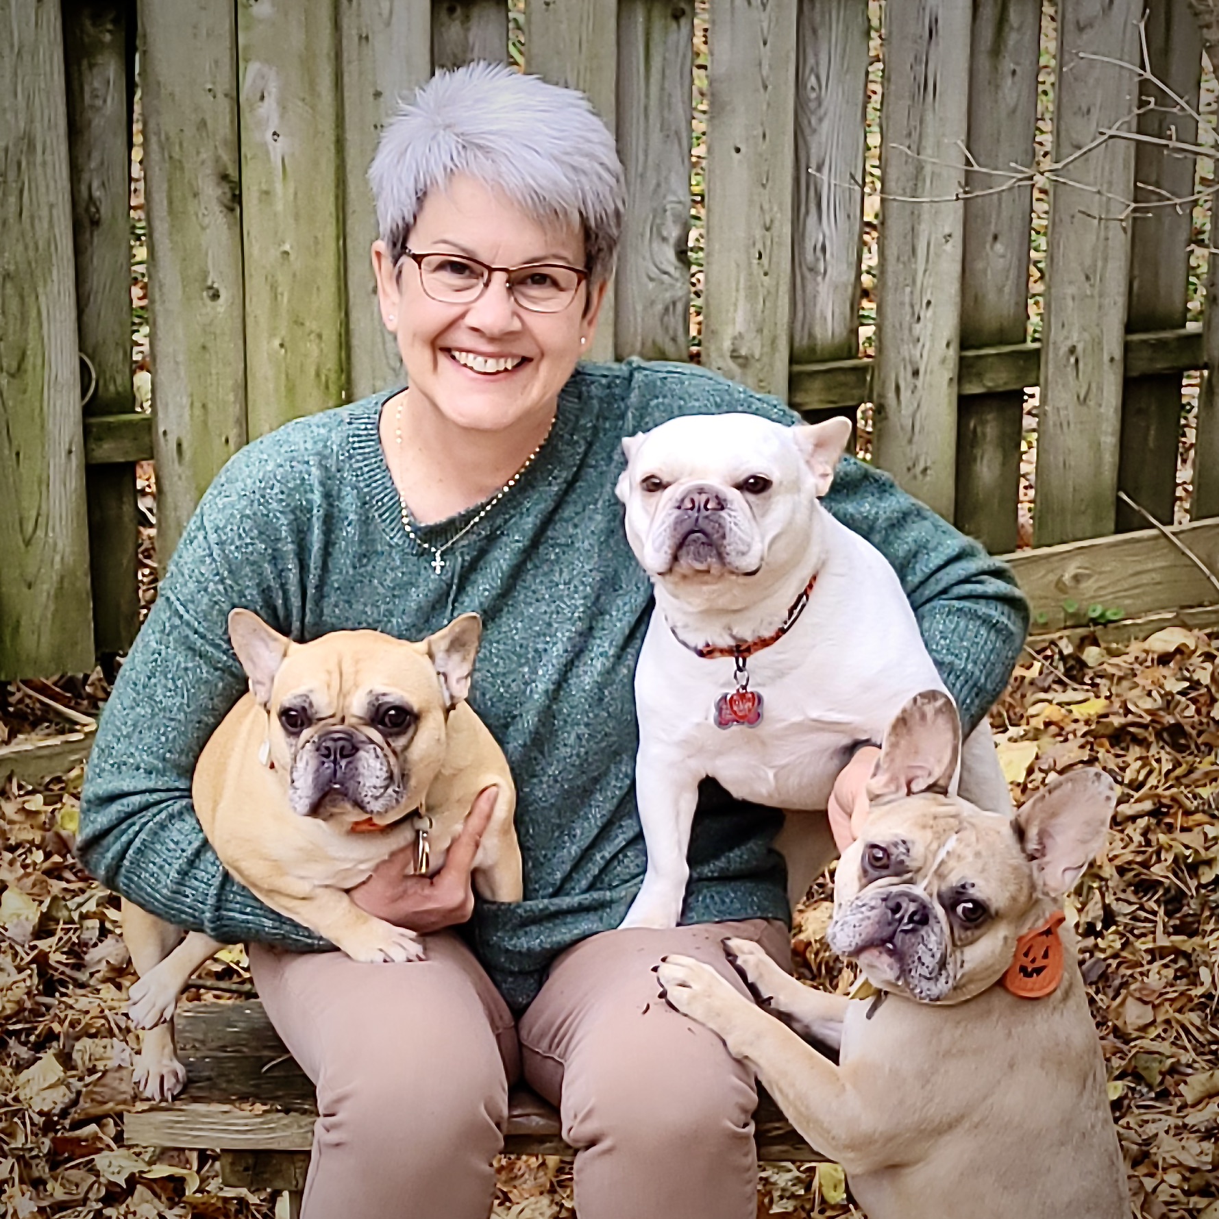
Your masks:
{"label": "tan French bulldog standing with paws on knee, orange pumpkin tag", "polygon": [[1057,931],[1117,789],[1078,770],[1014,820],[986,813],[947,795],[958,740],[942,694],[902,708],[864,834],[839,862],[826,939],[870,997],[803,986],[736,939],[729,958],[768,1011],[688,957],[659,965],[663,995],[844,1165],[868,1219],[1125,1219],[1100,1041],[1074,940]]}

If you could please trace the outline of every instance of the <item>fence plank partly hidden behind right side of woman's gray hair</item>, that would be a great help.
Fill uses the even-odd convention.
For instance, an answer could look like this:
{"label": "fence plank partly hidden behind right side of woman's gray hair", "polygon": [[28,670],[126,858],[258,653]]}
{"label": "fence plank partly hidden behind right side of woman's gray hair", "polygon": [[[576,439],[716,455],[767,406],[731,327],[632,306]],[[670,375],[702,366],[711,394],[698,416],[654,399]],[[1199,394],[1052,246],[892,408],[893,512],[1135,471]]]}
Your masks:
{"label": "fence plank partly hidden behind right side of woman's gray hair", "polygon": [[[588,94],[611,132],[616,128],[618,0],[530,0],[525,7],[525,67],[553,84]],[[612,360],[614,288],[610,285],[590,360]]]}

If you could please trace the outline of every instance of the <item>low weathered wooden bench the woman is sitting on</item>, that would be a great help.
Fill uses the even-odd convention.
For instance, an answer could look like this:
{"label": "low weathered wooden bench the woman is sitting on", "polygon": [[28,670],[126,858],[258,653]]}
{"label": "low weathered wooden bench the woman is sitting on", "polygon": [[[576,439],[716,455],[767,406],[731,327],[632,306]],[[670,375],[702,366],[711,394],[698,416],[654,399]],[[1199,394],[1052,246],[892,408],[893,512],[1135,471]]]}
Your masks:
{"label": "low weathered wooden bench the woman is sitting on", "polygon": [[[262,1003],[182,1003],[176,1030],[187,1087],[172,1104],[127,1113],[127,1142],[219,1151],[226,1185],[286,1191],[295,1215],[317,1108],[313,1085],[279,1040]],[[763,1096],[755,1125],[758,1159],[822,1159],[769,1097]],[[503,1153],[575,1154],[563,1141],[553,1107],[525,1087],[512,1090]]]}

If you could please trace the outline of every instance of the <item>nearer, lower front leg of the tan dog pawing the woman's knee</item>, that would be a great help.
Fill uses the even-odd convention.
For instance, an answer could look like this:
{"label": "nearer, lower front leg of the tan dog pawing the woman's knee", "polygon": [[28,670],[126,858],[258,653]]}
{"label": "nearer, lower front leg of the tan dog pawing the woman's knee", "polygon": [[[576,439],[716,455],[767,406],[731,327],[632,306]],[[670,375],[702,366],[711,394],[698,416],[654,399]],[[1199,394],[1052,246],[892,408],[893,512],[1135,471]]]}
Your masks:
{"label": "nearer, lower front leg of the tan dog pawing the woman's knee", "polygon": [[891,1106],[865,1103],[834,1063],[755,1007],[709,965],[669,956],[657,976],[666,1002],[718,1032],[728,1052],[753,1068],[809,1145],[847,1173],[875,1168],[903,1142],[903,1131],[892,1129],[898,1115]]}

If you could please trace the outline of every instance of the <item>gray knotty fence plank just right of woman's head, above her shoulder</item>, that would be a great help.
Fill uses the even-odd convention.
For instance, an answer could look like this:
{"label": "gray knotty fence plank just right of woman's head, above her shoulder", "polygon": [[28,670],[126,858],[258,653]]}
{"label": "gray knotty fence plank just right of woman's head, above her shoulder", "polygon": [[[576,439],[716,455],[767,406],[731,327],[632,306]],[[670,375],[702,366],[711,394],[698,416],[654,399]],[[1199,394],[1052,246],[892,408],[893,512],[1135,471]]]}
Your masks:
{"label": "gray knotty fence plank just right of woman's head, above her shoulder", "polygon": [[689,356],[692,46],[692,0],[618,0],[618,152],[627,176],[614,285],[619,357]]}

